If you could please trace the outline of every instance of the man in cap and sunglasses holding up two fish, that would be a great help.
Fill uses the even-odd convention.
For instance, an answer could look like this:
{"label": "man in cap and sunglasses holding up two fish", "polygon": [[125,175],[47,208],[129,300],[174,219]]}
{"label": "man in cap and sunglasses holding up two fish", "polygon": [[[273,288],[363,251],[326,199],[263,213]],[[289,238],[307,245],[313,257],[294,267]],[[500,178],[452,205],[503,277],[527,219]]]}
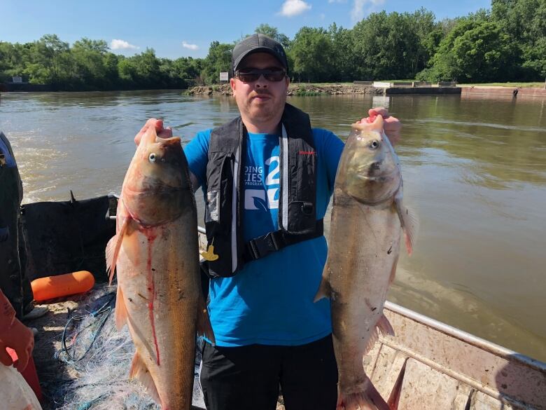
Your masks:
{"label": "man in cap and sunglasses holding up two fish", "polygon": [[[288,63],[281,44],[249,36],[232,54],[230,81],[241,116],[198,132],[184,149],[194,188],[202,186],[211,277],[201,382],[209,410],[335,409],[337,367],[330,304],[314,296],[327,246],[322,219],[343,142],[311,128],[286,104]],[[400,122],[386,110],[395,142]],[[160,137],[171,130],[152,118]],[[212,256],[212,257],[210,257]]]}

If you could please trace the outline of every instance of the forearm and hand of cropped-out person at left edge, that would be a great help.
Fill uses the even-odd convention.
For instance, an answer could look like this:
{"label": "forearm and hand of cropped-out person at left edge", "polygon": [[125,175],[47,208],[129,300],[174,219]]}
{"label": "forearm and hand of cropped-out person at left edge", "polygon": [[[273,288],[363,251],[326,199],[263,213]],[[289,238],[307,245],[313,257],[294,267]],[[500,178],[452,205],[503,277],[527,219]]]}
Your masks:
{"label": "forearm and hand of cropped-out person at left edge", "polygon": [[6,348],[15,350],[19,359],[15,364],[15,369],[23,371],[27,367],[32,349],[34,349],[34,335],[25,324],[15,317],[13,306],[0,291],[0,363],[11,366],[13,360]]}

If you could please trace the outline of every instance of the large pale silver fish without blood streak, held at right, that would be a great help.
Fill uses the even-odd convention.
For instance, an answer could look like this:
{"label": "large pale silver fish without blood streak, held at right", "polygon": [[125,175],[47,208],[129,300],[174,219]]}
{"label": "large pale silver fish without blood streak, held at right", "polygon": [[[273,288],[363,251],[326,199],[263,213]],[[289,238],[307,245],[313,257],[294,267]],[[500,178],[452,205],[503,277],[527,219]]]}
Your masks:
{"label": "large pale silver fish without blood streak, held at right", "polygon": [[328,297],[339,371],[337,409],[388,409],[365,374],[363,355],[378,329],[393,334],[383,314],[394,279],[400,235],[411,254],[416,219],[402,205],[402,177],[383,118],[356,123],[335,178],[328,259],[316,299]]}

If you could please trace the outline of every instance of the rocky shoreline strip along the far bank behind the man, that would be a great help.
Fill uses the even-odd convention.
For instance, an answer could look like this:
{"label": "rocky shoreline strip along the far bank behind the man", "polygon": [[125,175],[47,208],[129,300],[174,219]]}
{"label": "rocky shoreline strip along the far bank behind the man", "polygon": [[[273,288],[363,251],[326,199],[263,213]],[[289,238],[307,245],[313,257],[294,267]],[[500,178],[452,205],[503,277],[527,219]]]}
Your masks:
{"label": "rocky shoreline strip along the far bank behind the man", "polygon": [[[188,95],[232,95],[229,84],[221,84],[215,86],[197,86],[188,90]],[[296,83],[290,84],[288,87],[288,95],[351,95],[351,94],[367,94],[367,95],[383,95],[383,88],[374,88],[370,86],[360,86],[357,84],[310,84]]]}

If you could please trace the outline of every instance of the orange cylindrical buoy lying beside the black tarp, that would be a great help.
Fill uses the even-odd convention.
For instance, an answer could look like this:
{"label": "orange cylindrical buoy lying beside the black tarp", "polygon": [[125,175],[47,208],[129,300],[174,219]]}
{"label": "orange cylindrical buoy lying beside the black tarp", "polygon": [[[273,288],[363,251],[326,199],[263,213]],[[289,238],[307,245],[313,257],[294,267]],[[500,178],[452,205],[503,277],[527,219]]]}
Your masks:
{"label": "orange cylindrical buoy lying beside the black tarp", "polygon": [[60,296],[87,292],[94,286],[94,277],[89,271],[78,271],[38,278],[33,280],[30,285],[34,300],[40,302]]}

